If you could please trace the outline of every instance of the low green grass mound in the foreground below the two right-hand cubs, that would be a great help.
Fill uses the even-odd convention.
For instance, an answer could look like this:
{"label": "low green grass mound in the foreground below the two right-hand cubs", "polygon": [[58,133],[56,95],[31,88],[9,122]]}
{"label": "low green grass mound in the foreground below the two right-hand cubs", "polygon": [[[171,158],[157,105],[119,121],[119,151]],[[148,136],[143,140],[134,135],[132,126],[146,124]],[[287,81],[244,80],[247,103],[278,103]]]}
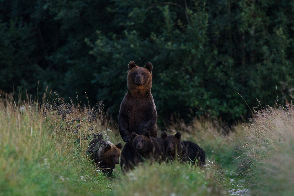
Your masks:
{"label": "low green grass mound in the foreground below the two right-hand cubs", "polygon": [[216,167],[145,164],[123,177],[113,195],[225,195],[214,172]]}

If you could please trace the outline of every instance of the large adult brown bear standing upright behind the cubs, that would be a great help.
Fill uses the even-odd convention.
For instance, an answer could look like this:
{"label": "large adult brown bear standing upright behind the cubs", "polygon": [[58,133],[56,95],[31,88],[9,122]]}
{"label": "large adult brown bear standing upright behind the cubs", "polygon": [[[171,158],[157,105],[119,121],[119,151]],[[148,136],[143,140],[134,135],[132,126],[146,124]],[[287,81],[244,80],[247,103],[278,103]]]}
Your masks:
{"label": "large adult brown bear standing upright behind the cubs", "polygon": [[128,91],[120,105],[118,128],[126,144],[121,152],[121,169],[123,172],[136,165],[138,156],[134,153],[131,133],[144,134],[157,138],[156,106],[151,94],[152,64],[138,67],[131,61],[128,64]]}

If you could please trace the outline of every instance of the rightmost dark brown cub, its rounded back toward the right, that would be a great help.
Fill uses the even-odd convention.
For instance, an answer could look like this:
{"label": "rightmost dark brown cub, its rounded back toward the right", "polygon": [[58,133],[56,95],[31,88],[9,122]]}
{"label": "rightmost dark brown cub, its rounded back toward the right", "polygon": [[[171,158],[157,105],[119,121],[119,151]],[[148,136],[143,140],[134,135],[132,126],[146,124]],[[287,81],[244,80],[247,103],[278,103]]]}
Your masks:
{"label": "rightmost dark brown cub, its rounded back toward the right", "polygon": [[191,141],[181,141],[182,134],[175,135],[161,133],[163,154],[168,160],[179,158],[181,161],[197,163],[199,167],[205,164],[205,152],[196,143]]}

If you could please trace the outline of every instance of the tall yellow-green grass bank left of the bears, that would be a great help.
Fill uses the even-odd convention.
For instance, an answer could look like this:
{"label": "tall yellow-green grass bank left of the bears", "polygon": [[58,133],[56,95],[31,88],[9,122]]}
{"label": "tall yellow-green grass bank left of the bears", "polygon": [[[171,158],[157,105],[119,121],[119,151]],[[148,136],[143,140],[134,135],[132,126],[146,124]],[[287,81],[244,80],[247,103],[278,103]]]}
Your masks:
{"label": "tall yellow-green grass bank left of the bears", "polygon": [[108,178],[86,158],[85,136],[104,132],[112,141],[118,139],[102,113],[55,101],[59,103],[16,105],[8,95],[1,98],[0,195],[103,193],[121,175],[115,171]]}

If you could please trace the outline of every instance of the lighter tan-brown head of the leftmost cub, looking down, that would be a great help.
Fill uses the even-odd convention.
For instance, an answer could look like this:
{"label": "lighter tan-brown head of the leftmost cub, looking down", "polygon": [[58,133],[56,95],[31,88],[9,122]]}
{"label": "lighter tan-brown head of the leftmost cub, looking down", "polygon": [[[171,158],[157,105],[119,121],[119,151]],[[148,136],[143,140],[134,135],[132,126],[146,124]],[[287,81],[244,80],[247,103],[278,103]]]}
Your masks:
{"label": "lighter tan-brown head of the leftmost cub, looking down", "polygon": [[100,154],[103,161],[109,164],[117,165],[119,164],[119,156],[121,155],[121,148],[123,148],[123,145],[121,143],[118,143],[114,145],[111,142],[106,143],[106,147]]}

